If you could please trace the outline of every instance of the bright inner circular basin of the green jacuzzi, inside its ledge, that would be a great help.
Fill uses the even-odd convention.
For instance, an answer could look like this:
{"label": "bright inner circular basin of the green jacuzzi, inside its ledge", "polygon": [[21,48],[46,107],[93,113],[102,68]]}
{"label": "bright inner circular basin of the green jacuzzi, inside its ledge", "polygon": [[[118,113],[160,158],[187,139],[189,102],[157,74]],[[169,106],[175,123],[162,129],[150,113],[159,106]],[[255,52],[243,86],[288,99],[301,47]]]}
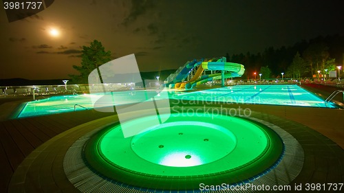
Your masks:
{"label": "bright inner circular basin of the green jacuzzi, inside its ledge", "polygon": [[[150,119],[155,116],[144,118]],[[111,142],[109,144],[111,146]],[[160,124],[131,139],[131,149],[142,159],[175,167],[211,163],[230,154],[236,146],[237,137],[230,130],[218,124],[197,121]],[[211,149],[216,152],[209,154]]]}

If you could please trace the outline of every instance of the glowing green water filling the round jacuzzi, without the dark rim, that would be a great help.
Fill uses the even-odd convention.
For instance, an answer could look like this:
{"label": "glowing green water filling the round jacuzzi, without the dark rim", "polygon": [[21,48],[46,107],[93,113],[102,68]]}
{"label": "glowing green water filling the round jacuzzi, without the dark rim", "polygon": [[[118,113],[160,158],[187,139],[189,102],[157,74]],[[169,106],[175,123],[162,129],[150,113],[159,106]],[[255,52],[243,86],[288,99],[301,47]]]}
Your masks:
{"label": "glowing green water filling the round jacuzzi, without the dark rim", "polygon": [[[149,122],[156,116],[127,124],[140,127],[135,122],[142,119]],[[259,126],[238,117],[186,117],[175,113],[163,124],[142,128],[133,137],[123,137],[121,126],[115,126],[101,137],[98,151],[107,162],[127,170],[197,175],[230,170],[257,160],[264,156],[269,141]]]}

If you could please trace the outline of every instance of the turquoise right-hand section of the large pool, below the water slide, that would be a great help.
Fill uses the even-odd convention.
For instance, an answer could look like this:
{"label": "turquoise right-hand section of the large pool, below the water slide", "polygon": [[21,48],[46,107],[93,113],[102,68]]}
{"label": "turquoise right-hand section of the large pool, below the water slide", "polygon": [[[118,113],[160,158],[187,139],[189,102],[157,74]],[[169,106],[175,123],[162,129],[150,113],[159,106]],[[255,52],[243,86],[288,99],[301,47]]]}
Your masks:
{"label": "turquoise right-hand section of the large pool, below the water slide", "polygon": [[312,106],[336,108],[329,102],[327,106],[321,98],[297,86],[290,85],[240,85],[182,93],[173,98],[179,100],[203,100],[237,104],[274,104],[288,106]]}

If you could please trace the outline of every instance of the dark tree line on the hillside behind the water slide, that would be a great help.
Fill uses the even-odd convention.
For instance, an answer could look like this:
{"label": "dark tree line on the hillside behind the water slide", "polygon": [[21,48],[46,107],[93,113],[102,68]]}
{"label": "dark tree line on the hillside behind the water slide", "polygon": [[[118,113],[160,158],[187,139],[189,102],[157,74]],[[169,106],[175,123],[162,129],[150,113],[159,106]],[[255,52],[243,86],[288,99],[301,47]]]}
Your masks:
{"label": "dark tree line on the hillside behind the water slide", "polygon": [[[262,53],[226,54],[228,62],[240,63],[245,66],[242,78],[254,78],[253,73],[271,70],[268,78],[311,78],[313,74],[327,73],[336,65],[343,65],[344,36],[318,36],[310,41],[301,41],[293,46],[282,46],[278,49],[268,47]],[[263,67],[263,69],[261,69]],[[262,73],[262,78],[264,73]],[[259,76],[257,75],[259,78]],[[266,78],[266,75],[264,76]]]}

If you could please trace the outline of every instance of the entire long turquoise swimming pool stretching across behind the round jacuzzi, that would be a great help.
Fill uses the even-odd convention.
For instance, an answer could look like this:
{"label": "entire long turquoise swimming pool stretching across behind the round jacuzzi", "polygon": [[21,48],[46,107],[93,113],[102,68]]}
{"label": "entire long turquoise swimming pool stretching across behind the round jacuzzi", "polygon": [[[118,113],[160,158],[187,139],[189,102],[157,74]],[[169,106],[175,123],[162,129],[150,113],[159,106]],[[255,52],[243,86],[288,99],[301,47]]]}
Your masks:
{"label": "entire long turquoise swimming pool stretching across behind the round jacuzzi", "polygon": [[[82,94],[82,95],[62,95],[27,102],[17,117],[33,117],[39,115],[49,115],[86,109],[93,109],[92,98],[100,98],[104,93]],[[111,95],[111,93],[106,93]],[[219,89],[209,89],[204,91],[193,91],[181,93],[175,90],[147,91],[122,91],[112,93],[114,100],[103,101],[99,107],[114,106],[122,104],[133,104],[144,102],[155,98],[155,100],[175,99],[175,100],[202,100],[207,102],[226,102],[243,104],[274,104],[288,106],[312,106],[322,108],[336,108],[336,105],[325,102],[316,97],[313,93],[302,89],[297,85],[238,85]],[[81,107],[83,106],[83,107]],[[84,108],[85,107],[85,108]]]}

